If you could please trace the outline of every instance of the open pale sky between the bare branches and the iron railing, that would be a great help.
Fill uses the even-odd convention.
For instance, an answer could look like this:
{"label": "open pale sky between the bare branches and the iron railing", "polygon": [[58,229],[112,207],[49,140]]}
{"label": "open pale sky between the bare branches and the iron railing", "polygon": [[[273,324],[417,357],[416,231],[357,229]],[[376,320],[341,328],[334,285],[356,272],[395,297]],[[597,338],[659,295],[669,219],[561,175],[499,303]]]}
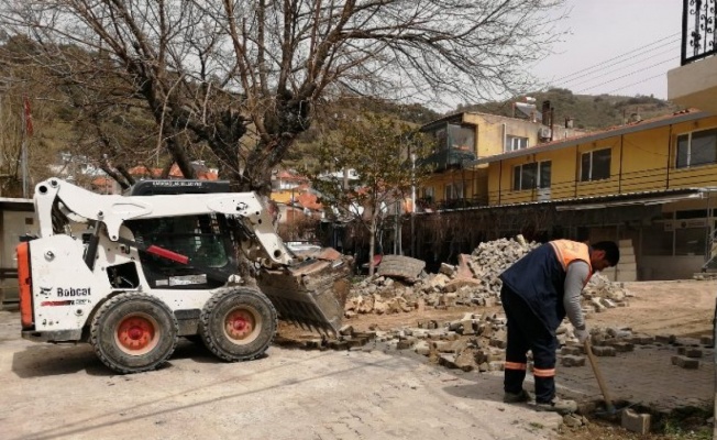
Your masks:
{"label": "open pale sky between the bare branches and the iron railing", "polygon": [[567,0],[569,31],[533,75],[576,95],[668,98],[668,70],[680,66],[681,0]]}

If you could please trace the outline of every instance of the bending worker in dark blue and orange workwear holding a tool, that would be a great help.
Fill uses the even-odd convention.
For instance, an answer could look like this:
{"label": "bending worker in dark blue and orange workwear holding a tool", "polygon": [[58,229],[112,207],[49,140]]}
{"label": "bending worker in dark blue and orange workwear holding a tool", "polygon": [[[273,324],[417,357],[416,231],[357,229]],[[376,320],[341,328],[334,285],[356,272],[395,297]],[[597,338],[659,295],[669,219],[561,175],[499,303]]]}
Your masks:
{"label": "bending worker in dark blue and orange workwear holding a tool", "polygon": [[570,414],[573,400],[555,396],[555,331],[565,315],[581,342],[589,338],[581,293],[594,272],[615,266],[620,251],[611,241],[593,245],[554,240],[529,252],[500,274],[500,300],[508,318],[504,402],[529,403],[522,387],[528,350],[532,351],[536,409]]}

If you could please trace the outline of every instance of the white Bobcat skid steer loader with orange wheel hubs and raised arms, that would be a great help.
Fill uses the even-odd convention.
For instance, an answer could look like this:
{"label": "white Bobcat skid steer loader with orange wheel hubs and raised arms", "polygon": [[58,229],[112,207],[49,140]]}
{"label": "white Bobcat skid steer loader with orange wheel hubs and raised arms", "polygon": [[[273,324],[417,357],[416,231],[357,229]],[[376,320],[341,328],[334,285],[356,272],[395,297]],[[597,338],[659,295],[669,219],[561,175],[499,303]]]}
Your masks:
{"label": "white Bobcat skid steer loader with orange wheel hubs and raised arms", "polygon": [[[225,361],[262,355],[277,319],[338,331],[345,258],[297,258],[254,193],[222,183],[144,180],[98,195],[35,187],[40,237],[16,248],[22,337],[89,342],[119,373],[148,371],[179,337]],[[238,276],[239,252],[255,282]],[[335,251],[334,251],[335,253]]]}

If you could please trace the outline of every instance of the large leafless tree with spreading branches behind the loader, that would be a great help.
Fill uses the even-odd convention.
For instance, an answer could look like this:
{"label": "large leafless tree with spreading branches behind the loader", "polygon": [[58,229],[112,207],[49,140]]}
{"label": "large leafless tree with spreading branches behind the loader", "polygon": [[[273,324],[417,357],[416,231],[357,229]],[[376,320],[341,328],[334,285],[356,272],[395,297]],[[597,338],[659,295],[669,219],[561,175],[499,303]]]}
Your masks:
{"label": "large leafless tree with spreading branches behind the loader", "polygon": [[0,24],[35,41],[35,61],[68,82],[91,86],[88,73],[112,70],[185,176],[190,148],[205,143],[234,189],[267,194],[271,169],[324,100],[521,90],[526,63],[556,37],[549,16],[562,3],[0,0]]}

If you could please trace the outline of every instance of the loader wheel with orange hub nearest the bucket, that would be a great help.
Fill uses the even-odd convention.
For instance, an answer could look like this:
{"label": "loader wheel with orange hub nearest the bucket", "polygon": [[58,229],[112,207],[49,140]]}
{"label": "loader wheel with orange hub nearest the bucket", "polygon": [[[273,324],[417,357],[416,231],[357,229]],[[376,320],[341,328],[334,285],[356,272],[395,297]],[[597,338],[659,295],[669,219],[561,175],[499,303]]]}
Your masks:
{"label": "loader wheel with orange hub nearest the bucket", "polygon": [[249,361],[264,354],[276,334],[274,305],[261,292],[232,287],[216,293],[199,318],[199,334],[219,359]]}

